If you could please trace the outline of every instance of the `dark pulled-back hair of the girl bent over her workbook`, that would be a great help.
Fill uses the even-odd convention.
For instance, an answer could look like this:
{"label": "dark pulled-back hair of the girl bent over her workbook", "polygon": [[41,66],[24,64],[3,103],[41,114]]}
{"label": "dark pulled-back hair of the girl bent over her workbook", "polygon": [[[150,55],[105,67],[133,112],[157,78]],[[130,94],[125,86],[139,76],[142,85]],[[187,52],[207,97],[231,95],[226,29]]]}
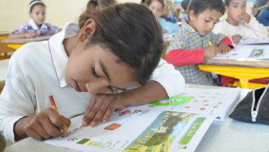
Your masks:
{"label": "dark pulled-back hair of the girl bent over her workbook", "polygon": [[90,18],[97,27],[88,46],[108,48],[118,62],[135,69],[139,84],[146,84],[164,50],[161,26],[152,12],[137,3],[110,6],[100,12],[86,10],[79,18],[79,28]]}

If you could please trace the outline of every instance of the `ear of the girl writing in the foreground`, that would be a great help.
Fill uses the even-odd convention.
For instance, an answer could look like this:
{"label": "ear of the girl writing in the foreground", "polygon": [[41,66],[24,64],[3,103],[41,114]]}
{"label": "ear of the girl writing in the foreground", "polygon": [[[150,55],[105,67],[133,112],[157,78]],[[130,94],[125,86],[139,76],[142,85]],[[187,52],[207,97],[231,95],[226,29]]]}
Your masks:
{"label": "ear of the girl writing in the foreground", "polygon": [[79,41],[83,42],[88,37],[91,37],[96,29],[97,23],[94,19],[88,19],[84,26],[79,31]]}

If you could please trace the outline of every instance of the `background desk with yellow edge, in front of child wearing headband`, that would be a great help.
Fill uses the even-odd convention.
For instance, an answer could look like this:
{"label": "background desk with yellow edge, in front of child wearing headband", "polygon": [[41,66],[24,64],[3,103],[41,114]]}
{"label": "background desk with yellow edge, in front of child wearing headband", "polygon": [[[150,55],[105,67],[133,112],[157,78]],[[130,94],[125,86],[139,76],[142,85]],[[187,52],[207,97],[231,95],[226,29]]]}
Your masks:
{"label": "background desk with yellow edge, in front of child wearing headband", "polygon": [[44,41],[50,39],[51,35],[49,36],[41,36],[41,37],[35,37],[35,38],[23,38],[23,39],[3,39],[1,42],[4,44],[7,44],[8,47],[18,49],[23,44],[27,44],[33,41]]}

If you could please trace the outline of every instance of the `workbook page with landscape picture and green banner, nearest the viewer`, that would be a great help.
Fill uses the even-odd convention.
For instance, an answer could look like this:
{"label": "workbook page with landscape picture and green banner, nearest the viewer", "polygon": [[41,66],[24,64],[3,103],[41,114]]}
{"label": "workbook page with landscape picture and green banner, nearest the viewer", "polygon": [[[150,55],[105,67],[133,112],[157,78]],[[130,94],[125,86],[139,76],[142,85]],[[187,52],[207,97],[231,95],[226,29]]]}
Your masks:
{"label": "workbook page with landscape picture and green banner, nearest the viewer", "polygon": [[79,151],[195,151],[214,120],[195,113],[125,111],[114,113],[108,123],[93,128],[77,124],[66,137],[45,143]]}

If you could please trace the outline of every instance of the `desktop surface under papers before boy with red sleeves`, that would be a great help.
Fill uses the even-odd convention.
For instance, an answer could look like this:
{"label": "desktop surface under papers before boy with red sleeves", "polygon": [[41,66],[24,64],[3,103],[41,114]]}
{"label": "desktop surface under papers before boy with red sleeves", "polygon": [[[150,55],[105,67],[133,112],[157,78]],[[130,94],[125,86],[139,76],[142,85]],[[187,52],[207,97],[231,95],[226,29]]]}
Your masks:
{"label": "desktop surface under papers before boy with red sleeves", "polygon": [[269,68],[269,59],[204,59],[203,64],[214,66],[243,66],[250,68]]}

